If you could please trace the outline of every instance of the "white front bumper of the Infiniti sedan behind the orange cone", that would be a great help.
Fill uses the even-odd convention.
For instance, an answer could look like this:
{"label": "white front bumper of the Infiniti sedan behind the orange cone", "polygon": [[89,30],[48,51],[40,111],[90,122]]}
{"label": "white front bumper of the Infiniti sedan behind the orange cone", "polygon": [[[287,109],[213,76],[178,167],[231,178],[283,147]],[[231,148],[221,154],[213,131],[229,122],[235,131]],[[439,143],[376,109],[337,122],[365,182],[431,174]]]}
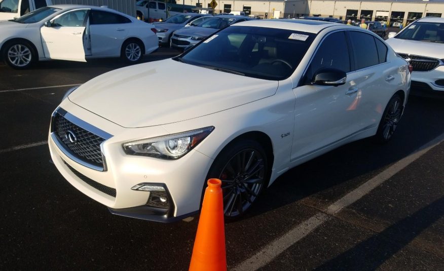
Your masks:
{"label": "white front bumper of the Infiniti sedan behind the orange cone", "polygon": [[[204,181],[212,159],[196,150],[174,161],[129,156],[123,151],[122,143],[133,141],[136,137],[143,139],[168,133],[161,127],[122,128],[98,119],[97,115],[77,105],[64,103],[69,103],[65,108],[72,115],[114,135],[101,144],[106,170],[99,171],[72,159],[69,153],[59,147],[57,138],[50,131],[48,145],[52,160],[71,185],[107,206],[110,212],[129,217],[172,222],[199,210]],[[169,197],[169,209],[147,205],[151,192],[131,189],[139,183],[164,186]]]}

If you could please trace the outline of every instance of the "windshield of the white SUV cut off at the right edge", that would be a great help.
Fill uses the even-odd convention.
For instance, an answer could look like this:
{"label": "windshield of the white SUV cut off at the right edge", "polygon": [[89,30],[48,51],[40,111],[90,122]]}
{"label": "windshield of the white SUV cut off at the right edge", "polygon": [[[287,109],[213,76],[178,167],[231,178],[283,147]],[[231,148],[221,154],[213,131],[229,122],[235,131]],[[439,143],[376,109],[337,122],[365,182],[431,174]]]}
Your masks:
{"label": "windshield of the white SUV cut off at the right edge", "polygon": [[395,38],[402,40],[444,43],[444,23],[418,22],[410,24]]}

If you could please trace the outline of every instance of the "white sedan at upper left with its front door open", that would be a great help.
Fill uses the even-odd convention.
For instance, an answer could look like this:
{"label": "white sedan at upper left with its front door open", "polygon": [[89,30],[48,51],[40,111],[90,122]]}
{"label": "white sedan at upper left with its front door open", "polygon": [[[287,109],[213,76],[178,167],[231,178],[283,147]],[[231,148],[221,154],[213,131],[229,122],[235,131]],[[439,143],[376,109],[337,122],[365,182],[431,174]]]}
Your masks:
{"label": "white sedan at upper left with its front door open", "polygon": [[115,10],[56,5],[0,22],[0,56],[17,69],[50,59],[122,57],[136,63],[158,48],[155,31]]}

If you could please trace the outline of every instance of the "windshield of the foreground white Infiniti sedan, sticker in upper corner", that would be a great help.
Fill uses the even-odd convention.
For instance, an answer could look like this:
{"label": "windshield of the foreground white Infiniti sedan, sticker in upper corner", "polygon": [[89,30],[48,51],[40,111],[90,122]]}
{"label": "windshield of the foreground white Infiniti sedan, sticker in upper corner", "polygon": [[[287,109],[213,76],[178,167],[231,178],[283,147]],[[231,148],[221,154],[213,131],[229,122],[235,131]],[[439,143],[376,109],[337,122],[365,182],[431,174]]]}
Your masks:
{"label": "windshield of the foreground white Infiniti sedan, sticker in upper corner", "polygon": [[266,80],[283,80],[298,67],[315,34],[231,26],[174,60]]}

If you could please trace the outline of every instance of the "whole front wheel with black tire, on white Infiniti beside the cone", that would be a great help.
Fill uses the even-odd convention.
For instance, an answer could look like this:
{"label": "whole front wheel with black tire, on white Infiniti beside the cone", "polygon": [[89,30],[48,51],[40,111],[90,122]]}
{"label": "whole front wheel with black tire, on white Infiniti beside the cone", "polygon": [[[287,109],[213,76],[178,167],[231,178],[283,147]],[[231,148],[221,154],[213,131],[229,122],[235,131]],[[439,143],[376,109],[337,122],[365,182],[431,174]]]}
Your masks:
{"label": "whole front wheel with black tire, on white Infiniti beside the cone", "polygon": [[250,209],[268,185],[270,174],[267,154],[253,140],[231,143],[214,160],[207,180],[209,178],[222,181],[226,219],[239,218]]}

